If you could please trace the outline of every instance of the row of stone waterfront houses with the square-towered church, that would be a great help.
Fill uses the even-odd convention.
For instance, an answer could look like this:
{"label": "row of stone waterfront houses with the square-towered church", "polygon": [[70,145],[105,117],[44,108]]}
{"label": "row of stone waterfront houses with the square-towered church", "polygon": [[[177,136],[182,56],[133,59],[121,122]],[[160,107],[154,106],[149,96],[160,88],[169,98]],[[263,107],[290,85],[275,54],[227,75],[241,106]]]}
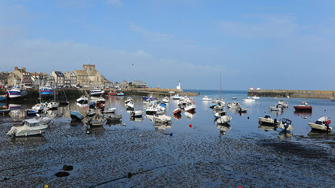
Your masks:
{"label": "row of stone waterfront houses with the square-towered church", "polygon": [[[147,84],[143,81],[130,82],[131,86],[146,88]],[[103,86],[119,86],[128,87],[129,83],[124,81],[121,84],[113,84],[96,70],[96,65],[84,64],[82,70],[74,70],[73,72],[61,72],[53,70],[50,75],[45,72],[27,72],[26,68],[15,67],[13,72],[0,73],[0,86],[26,86],[34,87],[39,85],[57,85],[58,87],[69,88],[71,86],[83,87],[103,87]]]}

